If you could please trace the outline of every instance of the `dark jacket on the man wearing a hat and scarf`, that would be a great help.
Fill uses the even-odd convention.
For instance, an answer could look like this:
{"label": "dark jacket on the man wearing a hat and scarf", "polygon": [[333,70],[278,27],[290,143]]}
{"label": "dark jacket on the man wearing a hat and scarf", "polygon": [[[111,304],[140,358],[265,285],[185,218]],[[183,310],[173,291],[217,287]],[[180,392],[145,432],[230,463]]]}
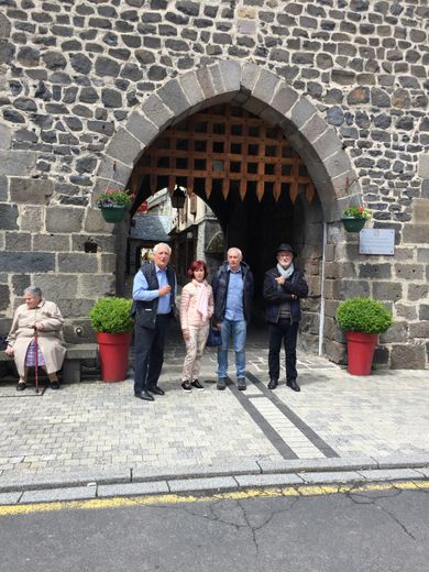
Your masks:
{"label": "dark jacket on the man wearing a hat and scarf", "polygon": [[[276,266],[274,268],[270,268],[270,271],[265,273],[263,297],[266,301],[266,321],[277,323],[280,312],[280,305],[285,301],[289,301],[292,321],[299,322],[301,319],[299,298],[307,298],[307,283],[304,279],[301,273],[295,270],[290,278],[287,278],[285,284],[279,287],[275,280],[275,278],[278,278],[279,276],[280,273]],[[293,294],[295,294],[297,298],[293,298]]]}

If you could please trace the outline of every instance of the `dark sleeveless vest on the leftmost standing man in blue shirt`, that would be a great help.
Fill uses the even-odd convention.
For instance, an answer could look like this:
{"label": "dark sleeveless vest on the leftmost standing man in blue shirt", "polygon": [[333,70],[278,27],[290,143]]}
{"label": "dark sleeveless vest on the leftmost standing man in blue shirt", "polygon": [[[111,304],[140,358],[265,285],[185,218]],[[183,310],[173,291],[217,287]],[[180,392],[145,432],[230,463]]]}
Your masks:
{"label": "dark sleeveless vest on the leftmost standing man in blue shirt", "polygon": [[[157,290],[160,288],[158,279],[156,277],[155,264],[143,264],[139,272],[144,274],[147,282],[148,290]],[[176,277],[172,266],[166,267],[167,282],[172,287],[172,315],[174,316],[175,310],[175,297],[176,297]],[[158,308],[160,298],[153,300],[134,300],[131,309],[131,316],[135,318],[135,322],[142,328],[154,329],[156,324],[156,311]]]}

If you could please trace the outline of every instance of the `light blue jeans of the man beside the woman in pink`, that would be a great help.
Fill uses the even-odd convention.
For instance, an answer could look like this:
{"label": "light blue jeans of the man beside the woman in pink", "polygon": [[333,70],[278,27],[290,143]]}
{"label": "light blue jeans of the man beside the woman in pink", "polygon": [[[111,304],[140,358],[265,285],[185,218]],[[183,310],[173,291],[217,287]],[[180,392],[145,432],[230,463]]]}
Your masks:
{"label": "light blue jeans of the man beside the woman in pink", "polygon": [[218,348],[218,376],[227,377],[228,374],[228,348],[232,337],[232,348],[235,352],[237,377],[245,377],[245,334],[246,321],[231,321],[223,318],[220,324],[222,344]]}

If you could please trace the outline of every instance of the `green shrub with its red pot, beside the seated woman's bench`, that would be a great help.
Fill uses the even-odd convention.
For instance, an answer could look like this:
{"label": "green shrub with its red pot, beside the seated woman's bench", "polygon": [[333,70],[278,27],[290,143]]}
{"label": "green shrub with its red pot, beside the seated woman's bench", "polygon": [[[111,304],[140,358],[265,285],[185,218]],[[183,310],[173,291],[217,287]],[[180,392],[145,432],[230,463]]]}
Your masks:
{"label": "green shrub with its red pot, beside the seated woman's bench", "polygon": [[128,355],[134,326],[130,317],[132,300],[114,296],[100,298],[89,312],[89,319],[97,332],[101,378],[105,382],[120,382],[127,377]]}

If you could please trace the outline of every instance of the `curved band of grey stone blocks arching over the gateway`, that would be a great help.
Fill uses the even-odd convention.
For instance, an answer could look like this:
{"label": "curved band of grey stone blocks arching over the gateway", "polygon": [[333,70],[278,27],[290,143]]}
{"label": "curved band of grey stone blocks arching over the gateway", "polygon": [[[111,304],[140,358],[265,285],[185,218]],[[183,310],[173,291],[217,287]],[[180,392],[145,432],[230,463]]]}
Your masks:
{"label": "curved band of grey stone blocks arching over the gateway", "polygon": [[139,157],[170,124],[220,102],[239,103],[278,125],[299,153],[315,183],[323,220],[339,220],[360,196],[351,161],[333,128],[317,108],[279,76],[255,64],[224,61],[169,80],[129,117],[111,139],[97,173],[94,198],[109,182],[125,187]]}

